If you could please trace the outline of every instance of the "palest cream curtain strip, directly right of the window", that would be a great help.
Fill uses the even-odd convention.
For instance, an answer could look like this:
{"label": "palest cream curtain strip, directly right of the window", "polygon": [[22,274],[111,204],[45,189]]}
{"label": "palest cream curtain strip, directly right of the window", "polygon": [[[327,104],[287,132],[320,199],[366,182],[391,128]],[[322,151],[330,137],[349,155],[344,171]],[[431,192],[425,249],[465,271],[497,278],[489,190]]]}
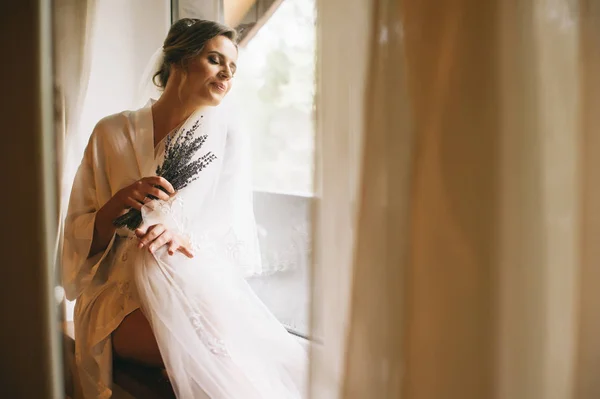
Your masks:
{"label": "palest cream curtain strip, directly right of the window", "polygon": [[337,398],[343,376],[371,8],[362,0],[317,1],[310,361],[315,399]]}

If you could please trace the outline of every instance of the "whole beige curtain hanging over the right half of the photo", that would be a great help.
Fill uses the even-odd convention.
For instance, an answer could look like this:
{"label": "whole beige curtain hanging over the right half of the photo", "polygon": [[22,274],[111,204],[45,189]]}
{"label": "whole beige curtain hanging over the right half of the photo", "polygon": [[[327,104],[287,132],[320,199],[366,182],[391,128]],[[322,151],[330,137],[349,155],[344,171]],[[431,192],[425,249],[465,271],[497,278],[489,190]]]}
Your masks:
{"label": "whole beige curtain hanging over the right half of the photo", "polygon": [[318,4],[312,397],[600,397],[599,3]]}

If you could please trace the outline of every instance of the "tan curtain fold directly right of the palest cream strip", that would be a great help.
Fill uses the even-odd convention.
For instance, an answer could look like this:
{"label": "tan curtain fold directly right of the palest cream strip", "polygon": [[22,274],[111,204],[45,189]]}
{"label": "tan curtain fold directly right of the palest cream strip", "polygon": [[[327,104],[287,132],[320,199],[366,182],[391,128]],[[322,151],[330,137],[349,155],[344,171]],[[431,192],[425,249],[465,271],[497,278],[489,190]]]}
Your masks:
{"label": "tan curtain fold directly right of the palest cream strip", "polygon": [[374,3],[342,397],[395,398],[413,157],[400,3]]}

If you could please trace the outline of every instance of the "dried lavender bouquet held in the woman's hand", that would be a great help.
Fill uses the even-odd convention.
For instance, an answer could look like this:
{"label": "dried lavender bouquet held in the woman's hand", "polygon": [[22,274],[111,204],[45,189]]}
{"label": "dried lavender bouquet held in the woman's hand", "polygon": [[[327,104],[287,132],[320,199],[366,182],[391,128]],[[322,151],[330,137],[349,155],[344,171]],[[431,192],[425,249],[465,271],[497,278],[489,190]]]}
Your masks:
{"label": "dried lavender bouquet held in the woman's hand", "polygon": [[[162,165],[156,168],[156,175],[166,179],[176,191],[196,180],[198,173],[217,159],[209,151],[192,161],[208,137],[206,134],[194,137],[198,127],[200,127],[200,120],[197,120],[189,130],[179,135],[175,133],[175,139],[172,139],[170,135],[165,139],[165,159]],[[156,187],[166,192],[161,186]],[[154,196],[149,196],[149,198],[157,199]],[[134,208],[113,221],[113,225],[116,227],[127,227],[130,230],[137,229],[141,224],[142,213]]]}

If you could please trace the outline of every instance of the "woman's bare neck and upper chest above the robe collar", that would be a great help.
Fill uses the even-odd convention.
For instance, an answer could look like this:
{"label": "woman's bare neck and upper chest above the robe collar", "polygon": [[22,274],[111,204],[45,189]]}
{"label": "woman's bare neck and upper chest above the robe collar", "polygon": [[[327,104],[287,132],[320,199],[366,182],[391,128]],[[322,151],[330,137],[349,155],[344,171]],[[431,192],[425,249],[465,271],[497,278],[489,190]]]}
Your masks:
{"label": "woman's bare neck and upper chest above the robe collar", "polygon": [[173,130],[183,124],[189,116],[201,107],[193,107],[183,103],[166,90],[152,104],[152,122],[154,124],[154,146]]}

